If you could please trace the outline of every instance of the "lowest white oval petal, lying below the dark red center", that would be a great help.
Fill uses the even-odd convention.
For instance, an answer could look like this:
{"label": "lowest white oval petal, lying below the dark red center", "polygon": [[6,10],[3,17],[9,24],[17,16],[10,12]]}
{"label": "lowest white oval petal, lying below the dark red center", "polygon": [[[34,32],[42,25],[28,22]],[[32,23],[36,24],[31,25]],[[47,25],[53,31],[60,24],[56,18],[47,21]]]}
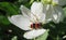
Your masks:
{"label": "lowest white oval petal, lying below the dark red center", "polygon": [[46,31],[46,29],[33,29],[31,31],[28,31],[24,34],[24,38],[26,39],[34,39],[41,35],[43,35]]}

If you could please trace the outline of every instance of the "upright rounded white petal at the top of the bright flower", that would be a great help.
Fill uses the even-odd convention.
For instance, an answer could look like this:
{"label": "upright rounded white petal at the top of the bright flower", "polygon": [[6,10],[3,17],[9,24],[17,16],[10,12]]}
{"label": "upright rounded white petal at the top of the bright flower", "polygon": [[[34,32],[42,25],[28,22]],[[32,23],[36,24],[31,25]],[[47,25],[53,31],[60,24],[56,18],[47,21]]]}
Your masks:
{"label": "upright rounded white petal at the top of the bright flower", "polygon": [[34,2],[31,6],[31,12],[33,14],[38,14],[43,12],[43,4],[41,2]]}

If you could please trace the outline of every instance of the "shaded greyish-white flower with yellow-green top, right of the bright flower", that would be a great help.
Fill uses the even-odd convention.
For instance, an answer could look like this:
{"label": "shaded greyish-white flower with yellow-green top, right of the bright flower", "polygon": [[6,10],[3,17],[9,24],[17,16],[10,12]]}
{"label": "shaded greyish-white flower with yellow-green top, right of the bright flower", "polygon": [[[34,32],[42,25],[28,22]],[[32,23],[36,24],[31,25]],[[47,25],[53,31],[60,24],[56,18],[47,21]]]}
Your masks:
{"label": "shaded greyish-white flower with yellow-green top, right of the bright flower", "polygon": [[54,23],[63,21],[64,12],[59,5],[59,1],[61,0],[44,0],[44,12],[47,21],[53,21]]}

